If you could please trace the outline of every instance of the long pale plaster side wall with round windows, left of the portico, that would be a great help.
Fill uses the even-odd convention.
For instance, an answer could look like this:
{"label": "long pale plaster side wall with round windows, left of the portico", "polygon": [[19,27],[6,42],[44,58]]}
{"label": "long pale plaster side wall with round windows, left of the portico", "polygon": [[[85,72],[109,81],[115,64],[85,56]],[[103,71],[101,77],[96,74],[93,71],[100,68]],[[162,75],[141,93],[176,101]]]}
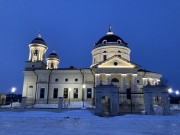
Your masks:
{"label": "long pale plaster side wall with round windows, left of the portico", "polygon": [[[82,80],[82,74],[84,73],[84,82]],[[53,99],[54,88],[58,88],[58,97],[64,96],[64,88],[71,88],[70,98],[73,98],[73,90],[74,88],[78,88],[78,98],[82,99],[82,86],[86,84],[86,88],[84,89],[84,97],[86,99],[86,89],[92,88],[92,98],[93,98],[93,88],[94,88],[94,78],[90,71],[90,69],[86,70],[36,70],[35,73],[38,75],[38,83],[37,83],[37,92],[36,92],[36,75],[33,71],[24,71],[24,86],[23,86],[23,96],[27,96],[28,98],[33,97],[35,99],[40,99],[40,89],[45,88],[45,98],[44,100]],[[50,75],[51,74],[51,75]],[[50,75],[50,81],[49,81]],[[66,82],[65,79],[68,79]],[[55,81],[58,79],[58,81]],[[78,79],[78,81],[75,81]],[[49,86],[48,86],[49,84]],[[28,90],[28,87],[32,85],[32,90]],[[68,94],[69,96],[69,94]],[[40,99],[42,101],[42,99]]]}

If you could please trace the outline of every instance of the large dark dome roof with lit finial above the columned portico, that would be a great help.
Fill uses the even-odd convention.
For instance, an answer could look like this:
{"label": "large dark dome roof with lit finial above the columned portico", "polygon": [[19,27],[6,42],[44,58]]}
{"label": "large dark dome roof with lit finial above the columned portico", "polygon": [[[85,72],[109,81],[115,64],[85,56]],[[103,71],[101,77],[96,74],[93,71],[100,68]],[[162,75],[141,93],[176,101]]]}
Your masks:
{"label": "large dark dome roof with lit finial above the columned portico", "polygon": [[122,38],[113,34],[113,32],[111,30],[111,26],[109,27],[109,31],[107,32],[107,35],[105,35],[97,43],[95,43],[94,49],[98,48],[98,47],[103,47],[103,46],[128,47],[127,43],[125,43]]}

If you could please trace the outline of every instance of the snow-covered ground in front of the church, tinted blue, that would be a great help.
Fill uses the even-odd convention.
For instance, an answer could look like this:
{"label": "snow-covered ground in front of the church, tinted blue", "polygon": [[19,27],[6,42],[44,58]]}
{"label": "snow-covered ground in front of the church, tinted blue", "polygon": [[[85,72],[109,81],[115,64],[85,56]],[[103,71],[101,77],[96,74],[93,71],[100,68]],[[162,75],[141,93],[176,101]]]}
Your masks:
{"label": "snow-covered ground in front of the church, tinted blue", "polygon": [[88,110],[0,112],[0,135],[180,135],[180,114],[103,118]]}

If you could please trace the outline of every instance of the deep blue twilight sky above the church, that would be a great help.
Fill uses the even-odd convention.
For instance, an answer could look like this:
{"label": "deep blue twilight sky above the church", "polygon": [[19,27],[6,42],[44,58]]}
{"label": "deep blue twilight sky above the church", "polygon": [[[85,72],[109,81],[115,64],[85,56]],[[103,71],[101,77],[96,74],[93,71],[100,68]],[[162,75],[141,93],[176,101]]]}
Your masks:
{"label": "deep blue twilight sky above the church", "polygon": [[180,89],[180,0],[0,0],[0,93],[21,93],[28,44],[41,31],[60,67],[88,68],[108,25],[129,44],[131,61]]}

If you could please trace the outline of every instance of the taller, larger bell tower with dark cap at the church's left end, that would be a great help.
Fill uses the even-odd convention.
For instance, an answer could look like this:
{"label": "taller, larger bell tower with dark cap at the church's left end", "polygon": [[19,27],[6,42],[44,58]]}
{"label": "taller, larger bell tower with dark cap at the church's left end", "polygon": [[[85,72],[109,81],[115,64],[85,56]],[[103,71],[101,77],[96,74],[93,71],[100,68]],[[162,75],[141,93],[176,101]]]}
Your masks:
{"label": "taller, larger bell tower with dark cap at the church's left end", "polygon": [[29,59],[26,61],[26,69],[46,69],[45,57],[47,49],[46,42],[39,33],[29,44]]}

